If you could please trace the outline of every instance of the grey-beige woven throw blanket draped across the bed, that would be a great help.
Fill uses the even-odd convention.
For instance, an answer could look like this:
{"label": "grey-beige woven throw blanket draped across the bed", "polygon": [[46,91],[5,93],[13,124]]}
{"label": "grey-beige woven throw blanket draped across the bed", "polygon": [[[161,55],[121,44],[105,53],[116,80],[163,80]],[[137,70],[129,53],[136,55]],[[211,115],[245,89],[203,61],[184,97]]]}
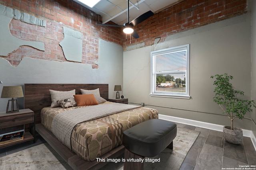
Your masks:
{"label": "grey-beige woven throw blanket draped across the bed", "polygon": [[122,111],[131,110],[140,106],[112,103],[105,105],[93,105],[90,107],[80,107],[77,109],[70,109],[62,111],[54,116],[52,120],[52,133],[59,141],[66,147],[71,149],[71,134],[73,128],[78,124],[101,117],[106,117]]}

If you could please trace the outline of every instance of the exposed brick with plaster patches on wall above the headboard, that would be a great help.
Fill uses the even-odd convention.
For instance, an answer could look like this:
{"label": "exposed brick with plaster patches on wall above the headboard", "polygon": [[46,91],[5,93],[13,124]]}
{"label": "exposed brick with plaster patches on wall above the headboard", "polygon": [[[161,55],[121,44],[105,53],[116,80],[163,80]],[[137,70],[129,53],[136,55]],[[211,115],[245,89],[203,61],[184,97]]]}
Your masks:
{"label": "exposed brick with plaster patches on wall above the headboard", "polygon": [[0,56],[12,66],[17,66],[23,57],[66,61],[59,45],[64,39],[63,26],[82,32],[82,63],[91,64],[92,68],[98,68],[95,62],[98,61],[99,38],[123,45],[120,28],[100,28],[96,22],[102,22],[101,16],[72,0],[2,0],[0,3],[46,20],[46,27],[11,20],[9,29],[13,36],[23,40],[41,41],[45,48],[45,51],[40,51],[33,47],[21,46],[8,56]]}

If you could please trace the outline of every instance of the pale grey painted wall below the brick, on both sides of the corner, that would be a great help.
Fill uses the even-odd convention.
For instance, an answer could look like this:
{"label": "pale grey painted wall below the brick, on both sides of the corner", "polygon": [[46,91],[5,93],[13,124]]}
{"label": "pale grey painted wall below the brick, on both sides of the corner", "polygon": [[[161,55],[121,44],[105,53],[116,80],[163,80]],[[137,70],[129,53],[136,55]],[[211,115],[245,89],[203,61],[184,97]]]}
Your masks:
{"label": "pale grey painted wall below the brick, on both sides of the corner", "polygon": [[[230,125],[229,119],[221,115],[222,111],[212,102],[214,86],[210,76],[225,72],[233,75],[232,83],[245,92],[244,98],[256,100],[255,3],[252,1],[252,20],[248,12],[171,35],[163,43],[148,47],[128,47],[131,50],[123,52],[121,46],[100,40],[98,69],[80,63],[59,63],[31,58],[24,58],[18,66],[13,67],[1,58],[0,81],[3,84],[0,84],[0,92],[2,86],[23,86],[24,83],[108,83],[109,98],[115,98],[114,85],[120,84],[120,95],[126,96],[130,103],[144,102],[147,107],[156,108],[164,115]],[[187,43],[190,43],[192,98],[150,97],[150,52]],[[0,111],[6,110],[7,101],[8,99],[0,98]],[[19,98],[19,103],[20,108],[23,108],[22,98]],[[256,110],[246,117],[255,121]],[[250,119],[236,119],[235,126],[252,129],[256,135],[256,126]]]}

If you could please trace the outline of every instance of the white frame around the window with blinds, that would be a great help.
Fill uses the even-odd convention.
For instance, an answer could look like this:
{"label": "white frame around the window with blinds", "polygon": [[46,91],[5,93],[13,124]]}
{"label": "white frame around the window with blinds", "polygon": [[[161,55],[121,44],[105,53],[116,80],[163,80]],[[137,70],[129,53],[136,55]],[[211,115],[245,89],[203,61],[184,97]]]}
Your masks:
{"label": "white frame around the window with blinds", "polygon": [[[186,55],[186,94],[184,93],[180,93],[180,92],[166,92],[166,91],[157,91],[156,90],[156,73],[153,70],[153,68],[156,68],[156,62],[153,62],[153,60],[156,59],[156,55],[163,55],[166,53],[172,53],[175,51],[182,51],[182,50],[186,50],[187,51],[187,55]],[[150,64],[151,64],[151,70],[150,70],[150,96],[152,97],[165,97],[165,98],[184,98],[184,99],[190,99],[190,92],[189,92],[189,59],[190,59],[190,44],[186,44],[186,45],[180,45],[180,46],[176,46],[176,47],[171,47],[168,49],[161,49],[161,50],[157,50],[157,51],[152,51],[150,52]],[[155,64],[153,66],[153,63]],[[161,74],[161,73],[158,73]]]}

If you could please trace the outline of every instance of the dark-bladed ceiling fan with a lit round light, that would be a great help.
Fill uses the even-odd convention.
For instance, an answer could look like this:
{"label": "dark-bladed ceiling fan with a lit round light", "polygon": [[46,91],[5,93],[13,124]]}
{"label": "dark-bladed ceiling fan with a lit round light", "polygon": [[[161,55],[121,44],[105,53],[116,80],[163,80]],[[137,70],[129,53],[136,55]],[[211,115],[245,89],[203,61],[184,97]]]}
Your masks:
{"label": "dark-bladed ceiling fan with a lit round light", "polygon": [[128,0],[128,13],[127,13],[127,23],[125,23],[124,25],[112,25],[112,24],[102,24],[102,23],[97,23],[97,25],[101,25],[101,26],[108,26],[108,27],[124,27],[123,31],[126,34],[131,34],[135,39],[139,38],[138,33],[133,29],[133,27],[135,25],[137,25],[138,23],[141,23],[142,21],[150,18],[151,16],[154,15],[154,13],[152,11],[148,11],[144,14],[142,14],[141,16],[138,16],[137,18],[135,18],[134,20],[129,22],[129,0]]}

